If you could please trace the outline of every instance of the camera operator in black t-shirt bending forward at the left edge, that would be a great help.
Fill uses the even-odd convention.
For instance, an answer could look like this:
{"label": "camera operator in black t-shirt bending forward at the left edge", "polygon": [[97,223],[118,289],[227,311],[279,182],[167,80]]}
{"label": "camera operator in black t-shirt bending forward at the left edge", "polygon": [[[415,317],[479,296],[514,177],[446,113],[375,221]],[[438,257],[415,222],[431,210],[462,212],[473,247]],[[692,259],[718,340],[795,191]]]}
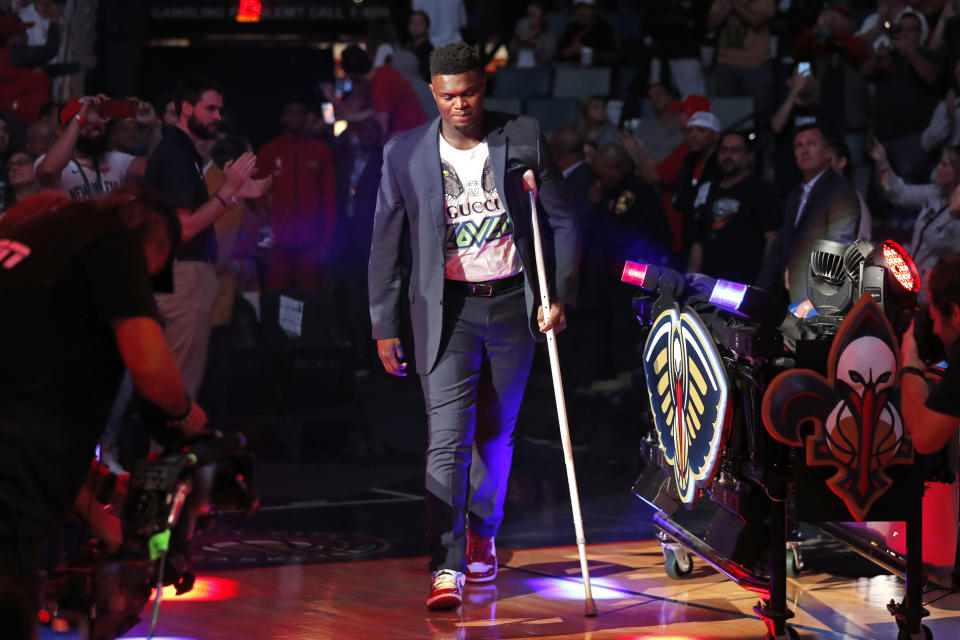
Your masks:
{"label": "camera operator in black t-shirt bending forward at the left edge", "polygon": [[166,204],[125,191],[73,203],[44,192],[0,219],[0,573],[28,594],[41,543],[90,470],[124,367],[174,416],[159,435],[206,422],[156,320],[152,285],[171,286],[180,234]]}

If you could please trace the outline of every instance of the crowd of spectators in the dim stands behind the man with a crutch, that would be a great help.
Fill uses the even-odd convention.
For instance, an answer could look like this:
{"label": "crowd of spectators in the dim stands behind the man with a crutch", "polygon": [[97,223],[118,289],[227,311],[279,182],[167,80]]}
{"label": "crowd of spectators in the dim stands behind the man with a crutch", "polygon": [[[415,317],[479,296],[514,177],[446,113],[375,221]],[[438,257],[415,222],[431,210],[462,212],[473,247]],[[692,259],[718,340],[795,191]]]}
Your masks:
{"label": "crowd of spectators in the dim stands behind the man with a crutch", "polygon": [[[52,62],[57,2],[5,4],[3,208],[42,189],[85,198],[140,184],[181,105],[172,94],[154,106],[133,98],[130,113],[110,117],[123,100],[50,103],[50,77],[91,61]],[[960,246],[960,212],[949,206],[960,182],[952,0],[544,0],[515,8],[501,33],[479,35],[475,8],[398,7],[338,50],[336,82],[285,96],[277,137],[254,149],[233,124],[198,141],[205,197],[216,197],[246,150],[257,153],[255,175],[273,181],[266,196],[226,202],[214,216],[213,326],[229,323],[238,295],[256,308],[260,291],[297,288],[338,300],[351,341],[365,339],[356,294],[380,152],[436,116],[430,52],[463,38],[487,54],[488,87],[501,65],[610,69],[616,80],[609,93],[585,93],[567,126],[545,127],[584,233],[573,316],[590,329],[574,319],[570,334],[599,331],[609,343],[583,349],[592,354],[585,385],[629,367],[618,362],[629,330],[613,327],[626,258],[760,284],[804,313],[804,251],[815,239],[892,237],[921,272]],[[749,106],[735,117],[715,108],[729,99]],[[358,371],[369,355],[357,349]]]}

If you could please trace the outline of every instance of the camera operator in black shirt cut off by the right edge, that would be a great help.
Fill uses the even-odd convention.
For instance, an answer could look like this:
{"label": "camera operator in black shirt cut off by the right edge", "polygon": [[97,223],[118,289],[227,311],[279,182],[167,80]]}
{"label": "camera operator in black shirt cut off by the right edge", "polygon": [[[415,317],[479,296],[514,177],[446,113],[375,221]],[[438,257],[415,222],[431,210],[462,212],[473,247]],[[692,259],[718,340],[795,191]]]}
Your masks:
{"label": "camera operator in black shirt cut off by the right edge", "polygon": [[900,345],[903,419],[914,446],[924,454],[940,450],[960,428],[960,255],[934,267],[928,295],[933,333],[943,342],[950,363],[943,379],[932,389],[927,386],[915,323]]}

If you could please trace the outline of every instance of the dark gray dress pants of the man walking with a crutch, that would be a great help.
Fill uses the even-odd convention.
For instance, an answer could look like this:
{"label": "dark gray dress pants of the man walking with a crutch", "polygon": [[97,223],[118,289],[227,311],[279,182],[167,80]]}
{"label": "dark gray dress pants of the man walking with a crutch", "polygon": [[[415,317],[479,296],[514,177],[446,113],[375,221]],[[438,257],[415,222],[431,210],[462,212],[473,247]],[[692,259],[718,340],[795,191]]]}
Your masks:
{"label": "dark gray dress pants of the man walking with a crutch", "polygon": [[523,288],[473,297],[444,292],[444,331],[426,400],[426,508],[430,569],[465,571],[465,524],[496,534],[513,457],[514,427],[533,360]]}

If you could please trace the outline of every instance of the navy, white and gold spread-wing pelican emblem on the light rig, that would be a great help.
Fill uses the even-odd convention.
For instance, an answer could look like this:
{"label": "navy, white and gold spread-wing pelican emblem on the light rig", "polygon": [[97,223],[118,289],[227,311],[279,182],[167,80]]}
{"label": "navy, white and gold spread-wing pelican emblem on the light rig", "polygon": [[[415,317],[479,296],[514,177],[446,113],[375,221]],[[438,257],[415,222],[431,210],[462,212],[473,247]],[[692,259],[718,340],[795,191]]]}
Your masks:
{"label": "navy, white and gold spread-wing pelican emblem on the light rig", "polygon": [[653,323],[643,368],[660,449],[677,493],[691,504],[713,478],[729,424],[723,361],[696,312],[674,305]]}

